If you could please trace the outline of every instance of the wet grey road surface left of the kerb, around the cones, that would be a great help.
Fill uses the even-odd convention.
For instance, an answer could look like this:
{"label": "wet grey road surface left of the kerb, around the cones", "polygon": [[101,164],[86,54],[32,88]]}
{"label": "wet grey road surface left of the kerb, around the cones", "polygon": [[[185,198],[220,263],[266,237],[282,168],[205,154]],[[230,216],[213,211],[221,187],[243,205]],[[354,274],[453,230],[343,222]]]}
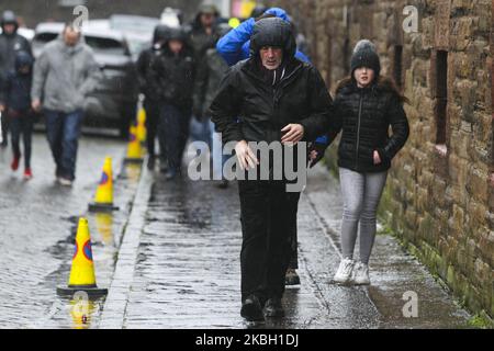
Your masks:
{"label": "wet grey road surface left of the kerb, around the cones", "polygon": [[[98,319],[102,301],[90,303],[87,320],[75,312],[75,302],[56,295],[70,270],[78,216],[87,215],[104,157],[113,157],[119,173],[125,143],[83,137],[79,145],[77,180],[72,188],[55,182],[55,167],[44,134],[35,134],[34,178],[22,180],[22,167],[10,170],[11,150],[0,150],[0,328],[89,328]],[[22,161],[21,161],[22,165]],[[113,215],[89,215],[97,281],[108,286],[120,245],[121,227],[137,185],[127,179],[115,183]],[[134,184],[134,185],[133,185]],[[134,188],[134,189],[133,189]]]}

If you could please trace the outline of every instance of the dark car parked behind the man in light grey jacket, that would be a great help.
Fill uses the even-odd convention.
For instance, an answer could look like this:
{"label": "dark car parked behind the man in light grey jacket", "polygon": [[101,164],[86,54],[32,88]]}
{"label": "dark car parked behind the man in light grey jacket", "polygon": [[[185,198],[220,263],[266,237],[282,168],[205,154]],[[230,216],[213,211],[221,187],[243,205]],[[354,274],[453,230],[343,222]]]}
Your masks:
{"label": "dark car parked behind the man in light grey jacket", "polygon": [[[44,45],[56,39],[63,23],[41,23],[33,38],[33,53],[37,57]],[[138,99],[137,73],[125,36],[112,31],[108,21],[89,21],[82,29],[86,43],[94,50],[102,71],[98,88],[86,104],[85,125],[119,128],[126,137],[131,121],[135,118]]]}

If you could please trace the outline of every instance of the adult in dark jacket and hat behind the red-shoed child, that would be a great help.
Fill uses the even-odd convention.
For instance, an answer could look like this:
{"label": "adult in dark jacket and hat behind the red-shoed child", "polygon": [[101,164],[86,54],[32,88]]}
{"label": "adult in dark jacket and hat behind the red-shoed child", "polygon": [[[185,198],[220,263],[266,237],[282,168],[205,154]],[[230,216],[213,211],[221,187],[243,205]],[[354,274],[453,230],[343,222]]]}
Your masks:
{"label": "adult in dark jacket and hat behind the red-shoed child", "polygon": [[[1,18],[0,25],[2,34],[0,35],[0,81],[4,80],[7,76],[15,69],[15,54],[18,52],[26,52],[31,56],[30,42],[18,34],[19,22],[15,13],[12,11],[4,11]],[[1,112],[1,111],[0,111]],[[8,118],[2,118],[2,147],[7,147],[8,140]]]}

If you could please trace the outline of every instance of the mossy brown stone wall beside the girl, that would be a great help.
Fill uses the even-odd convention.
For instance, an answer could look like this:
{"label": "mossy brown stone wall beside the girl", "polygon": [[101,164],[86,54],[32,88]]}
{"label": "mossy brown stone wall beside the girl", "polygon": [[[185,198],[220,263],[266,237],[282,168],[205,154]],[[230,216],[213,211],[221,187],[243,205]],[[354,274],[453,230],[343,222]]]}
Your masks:
{"label": "mossy brown stone wall beside the girl", "polygon": [[[377,44],[383,73],[396,78],[411,100],[411,138],[393,161],[380,215],[471,310],[492,317],[494,1],[271,3],[299,22],[333,92],[348,75],[356,42]],[[405,5],[418,10],[416,33],[403,30]]]}

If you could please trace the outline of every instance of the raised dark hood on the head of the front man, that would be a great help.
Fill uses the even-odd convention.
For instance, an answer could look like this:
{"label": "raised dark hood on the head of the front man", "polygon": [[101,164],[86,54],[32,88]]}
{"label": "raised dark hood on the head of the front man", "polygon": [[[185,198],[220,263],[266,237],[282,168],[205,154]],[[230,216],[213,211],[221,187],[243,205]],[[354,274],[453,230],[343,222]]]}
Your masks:
{"label": "raised dark hood on the head of the front man", "polygon": [[290,23],[281,18],[262,19],[256,22],[250,38],[250,55],[256,57],[263,46],[281,47],[284,57],[293,57],[296,43]]}

